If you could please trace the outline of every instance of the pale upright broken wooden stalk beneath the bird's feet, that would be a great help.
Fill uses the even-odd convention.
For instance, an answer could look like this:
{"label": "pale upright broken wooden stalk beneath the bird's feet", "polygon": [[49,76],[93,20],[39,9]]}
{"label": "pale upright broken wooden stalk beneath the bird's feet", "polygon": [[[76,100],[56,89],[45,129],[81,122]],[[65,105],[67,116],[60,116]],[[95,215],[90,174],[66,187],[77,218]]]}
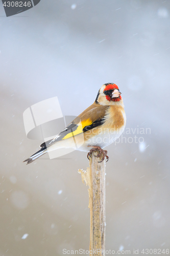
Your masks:
{"label": "pale upright broken wooden stalk beneath the bird's feet", "polygon": [[89,186],[90,256],[105,256],[105,160],[100,163],[103,155],[96,157],[98,154],[91,154],[86,171],[79,169],[83,183]]}

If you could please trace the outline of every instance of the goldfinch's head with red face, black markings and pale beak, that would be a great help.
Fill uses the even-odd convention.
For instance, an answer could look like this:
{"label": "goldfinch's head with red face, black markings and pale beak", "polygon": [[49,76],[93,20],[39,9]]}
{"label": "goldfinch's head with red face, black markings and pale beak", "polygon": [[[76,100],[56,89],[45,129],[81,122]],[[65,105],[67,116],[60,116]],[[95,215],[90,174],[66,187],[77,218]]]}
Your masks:
{"label": "goldfinch's head with red face, black markings and pale beak", "polygon": [[121,104],[122,97],[120,94],[118,86],[115,83],[105,83],[99,90],[95,102],[101,105]]}

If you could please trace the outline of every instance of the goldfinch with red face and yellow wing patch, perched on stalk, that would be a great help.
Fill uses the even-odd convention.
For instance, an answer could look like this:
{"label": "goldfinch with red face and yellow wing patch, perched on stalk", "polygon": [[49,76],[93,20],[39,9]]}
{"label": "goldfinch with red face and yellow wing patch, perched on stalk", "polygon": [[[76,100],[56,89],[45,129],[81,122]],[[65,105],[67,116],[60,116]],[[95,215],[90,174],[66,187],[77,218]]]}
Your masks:
{"label": "goldfinch with red face and yellow wing patch, perched on stalk", "polygon": [[[105,83],[94,103],[69,123],[54,139],[43,142],[40,150],[23,162],[32,163],[47,152],[59,148],[74,148],[88,152],[98,151],[102,160],[109,157],[104,147],[114,142],[125,130],[126,114],[122,94],[115,83]],[[76,142],[76,143],[75,143]]]}

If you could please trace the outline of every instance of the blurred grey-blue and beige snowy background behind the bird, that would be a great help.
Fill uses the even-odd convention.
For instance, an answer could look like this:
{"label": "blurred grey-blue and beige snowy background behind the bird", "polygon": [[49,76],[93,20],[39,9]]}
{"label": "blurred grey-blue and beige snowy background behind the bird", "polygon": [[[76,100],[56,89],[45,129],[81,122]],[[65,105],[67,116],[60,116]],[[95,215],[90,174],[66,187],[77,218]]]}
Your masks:
{"label": "blurred grey-blue and beige snowy background behind the bird", "polygon": [[0,9],[0,255],[89,249],[78,174],[87,154],[22,163],[43,142],[27,138],[22,114],[58,96],[63,115],[79,115],[107,82],[122,92],[126,127],[151,134],[106,148],[106,249],[169,249],[169,1],[41,0],[8,18]]}

